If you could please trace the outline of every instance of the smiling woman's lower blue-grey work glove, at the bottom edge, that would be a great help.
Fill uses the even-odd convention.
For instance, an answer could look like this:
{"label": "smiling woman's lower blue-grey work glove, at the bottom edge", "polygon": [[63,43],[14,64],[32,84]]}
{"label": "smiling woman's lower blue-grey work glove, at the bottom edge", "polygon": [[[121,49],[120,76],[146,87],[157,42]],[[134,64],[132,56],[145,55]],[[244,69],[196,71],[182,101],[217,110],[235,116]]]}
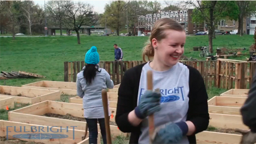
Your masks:
{"label": "smiling woman's lower blue-grey work glove, at the bottom edge", "polygon": [[157,128],[152,135],[153,143],[179,143],[188,133],[188,125],[185,121],[179,123],[167,123]]}

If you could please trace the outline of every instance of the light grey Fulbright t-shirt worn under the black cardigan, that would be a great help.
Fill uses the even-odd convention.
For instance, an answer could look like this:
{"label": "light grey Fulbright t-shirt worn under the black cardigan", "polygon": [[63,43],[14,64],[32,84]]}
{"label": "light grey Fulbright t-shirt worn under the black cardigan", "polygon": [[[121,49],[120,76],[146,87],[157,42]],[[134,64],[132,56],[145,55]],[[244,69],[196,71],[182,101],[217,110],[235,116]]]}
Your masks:
{"label": "light grey Fulbright t-shirt worn under the black cardigan", "polygon": [[[186,65],[178,62],[167,71],[155,71],[149,66],[149,62],[142,68],[141,80],[138,92],[138,104],[141,96],[147,89],[146,73],[153,72],[153,89],[160,89],[161,111],[154,114],[155,127],[166,124],[186,121],[189,107],[189,69]],[[138,105],[137,104],[137,105]],[[139,143],[149,143],[148,118],[142,121],[141,136]],[[179,143],[189,143],[188,137],[184,136]]]}

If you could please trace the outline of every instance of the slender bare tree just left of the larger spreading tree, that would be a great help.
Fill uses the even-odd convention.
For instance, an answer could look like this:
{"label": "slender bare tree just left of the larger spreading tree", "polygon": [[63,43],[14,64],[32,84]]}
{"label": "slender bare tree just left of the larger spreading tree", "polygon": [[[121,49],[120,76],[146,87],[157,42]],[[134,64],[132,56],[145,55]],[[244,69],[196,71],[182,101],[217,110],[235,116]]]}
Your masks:
{"label": "slender bare tree just left of the larger spreading tree", "polygon": [[47,11],[54,20],[57,20],[58,25],[60,26],[60,33],[63,35],[62,26],[63,26],[63,17],[64,17],[64,1],[49,1],[47,3]]}

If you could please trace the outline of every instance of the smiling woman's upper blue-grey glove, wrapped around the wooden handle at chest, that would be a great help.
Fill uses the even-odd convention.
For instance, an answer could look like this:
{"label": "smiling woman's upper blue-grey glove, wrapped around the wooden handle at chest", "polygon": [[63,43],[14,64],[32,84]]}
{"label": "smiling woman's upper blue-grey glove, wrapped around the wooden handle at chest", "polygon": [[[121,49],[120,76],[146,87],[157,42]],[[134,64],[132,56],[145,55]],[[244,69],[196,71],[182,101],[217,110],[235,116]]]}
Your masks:
{"label": "smiling woman's upper blue-grey glove, wrapped around the wooden handle at chest", "polygon": [[154,112],[160,111],[160,92],[152,92],[152,90],[146,90],[141,96],[139,105],[135,108],[135,114],[138,118],[144,119],[148,115],[154,114]]}

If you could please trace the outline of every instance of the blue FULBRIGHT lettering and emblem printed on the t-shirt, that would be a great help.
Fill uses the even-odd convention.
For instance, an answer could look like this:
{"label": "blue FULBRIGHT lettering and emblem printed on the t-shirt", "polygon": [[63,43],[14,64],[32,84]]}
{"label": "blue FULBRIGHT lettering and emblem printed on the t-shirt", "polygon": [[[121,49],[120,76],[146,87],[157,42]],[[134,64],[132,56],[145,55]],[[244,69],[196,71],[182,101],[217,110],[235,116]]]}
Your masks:
{"label": "blue FULBRIGHT lettering and emblem printed on the t-shirt", "polygon": [[[180,99],[180,96],[177,96],[177,94],[182,95],[182,101],[184,101],[184,96],[183,96],[183,86],[178,86],[174,87],[173,89],[160,89],[161,93],[161,99],[160,103],[165,103],[165,102],[174,102],[178,101]],[[141,99],[141,96],[145,92],[145,89],[140,89],[140,95],[139,95],[139,100]],[[171,94],[176,94],[176,95],[171,95]]]}

